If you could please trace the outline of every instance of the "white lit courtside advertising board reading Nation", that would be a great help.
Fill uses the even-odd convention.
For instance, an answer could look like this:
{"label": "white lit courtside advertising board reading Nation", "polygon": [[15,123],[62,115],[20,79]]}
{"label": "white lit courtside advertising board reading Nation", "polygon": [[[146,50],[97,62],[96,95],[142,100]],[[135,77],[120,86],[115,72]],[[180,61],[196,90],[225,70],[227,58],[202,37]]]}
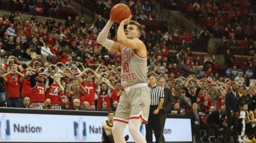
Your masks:
{"label": "white lit courtside advertising board reading Nation", "polygon": [[[0,113],[0,141],[102,142],[105,120],[107,116]],[[146,135],[144,125],[140,131]],[[130,136],[128,125],[124,135]],[[190,119],[166,119],[165,141],[192,141],[191,135]]]}

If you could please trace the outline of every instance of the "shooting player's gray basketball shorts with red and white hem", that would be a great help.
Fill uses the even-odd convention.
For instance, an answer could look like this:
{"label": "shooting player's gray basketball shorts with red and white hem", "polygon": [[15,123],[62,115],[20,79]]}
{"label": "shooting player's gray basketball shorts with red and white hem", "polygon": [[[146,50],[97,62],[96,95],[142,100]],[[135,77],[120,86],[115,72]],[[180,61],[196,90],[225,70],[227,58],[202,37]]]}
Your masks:
{"label": "shooting player's gray basketball shorts with red and white hem", "polygon": [[114,121],[129,122],[129,119],[142,119],[142,124],[148,123],[150,106],[149,87],[138,87],[121,94]]}

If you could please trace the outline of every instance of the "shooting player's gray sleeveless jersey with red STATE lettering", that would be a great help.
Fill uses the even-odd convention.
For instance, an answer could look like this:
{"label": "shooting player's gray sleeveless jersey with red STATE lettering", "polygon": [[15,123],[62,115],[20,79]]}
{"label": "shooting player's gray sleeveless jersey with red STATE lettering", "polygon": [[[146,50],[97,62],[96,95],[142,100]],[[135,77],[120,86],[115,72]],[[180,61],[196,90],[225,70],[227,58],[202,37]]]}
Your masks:
{"label": "shooting player's gray sleeveless jersey with red STATE lettering", "polygon": [[124,47],[121,51],[121,86],[147,83],[147,57],[137,56],[132,49]]}

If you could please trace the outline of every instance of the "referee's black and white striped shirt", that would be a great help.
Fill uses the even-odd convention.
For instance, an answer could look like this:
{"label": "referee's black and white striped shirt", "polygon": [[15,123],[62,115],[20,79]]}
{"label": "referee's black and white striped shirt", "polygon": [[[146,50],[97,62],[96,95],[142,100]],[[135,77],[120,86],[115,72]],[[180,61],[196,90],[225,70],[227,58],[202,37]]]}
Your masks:
{"label": "referee's black and white striped shirt", "polygon": [[163,88],[155,86],[150,88],[150,105],[159,105],[160,98],[164,98]]}

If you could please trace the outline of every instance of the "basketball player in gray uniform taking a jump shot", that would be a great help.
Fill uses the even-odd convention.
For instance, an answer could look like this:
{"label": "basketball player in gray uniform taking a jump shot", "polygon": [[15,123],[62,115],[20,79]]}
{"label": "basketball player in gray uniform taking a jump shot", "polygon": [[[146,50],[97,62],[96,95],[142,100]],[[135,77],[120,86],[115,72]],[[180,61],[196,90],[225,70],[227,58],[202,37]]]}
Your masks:
{"label": "basketball player in gray uniform taking a jump shot", "polygon": [[[121,53],[121,86],[125,92],[120,96],[112,129],[115,142],[126,142],[123,131],[128,124],[129,132],[137,143],[147,142],[140,133],[141,123],[148,122],[150,94],[147,84],[147,49],[142,41],[140,24],[130,21],[131,16],[120,22],[117,42],[107,39],[114,20],[110,16],[99,33],[97,43]],[[124,29],[124,25],[127,25]]]}

